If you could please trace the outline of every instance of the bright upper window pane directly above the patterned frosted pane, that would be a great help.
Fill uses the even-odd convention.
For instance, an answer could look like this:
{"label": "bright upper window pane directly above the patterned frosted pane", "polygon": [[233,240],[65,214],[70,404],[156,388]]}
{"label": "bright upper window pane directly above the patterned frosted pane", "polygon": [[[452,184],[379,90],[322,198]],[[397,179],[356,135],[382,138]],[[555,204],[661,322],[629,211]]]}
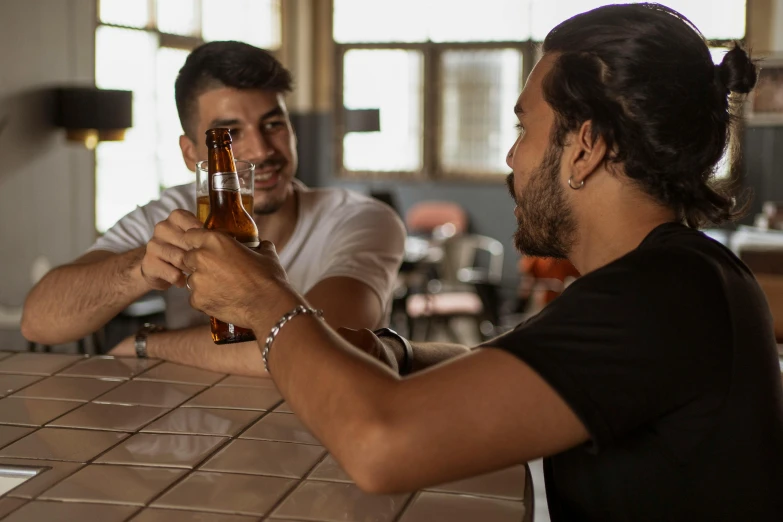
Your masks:
{"label": "bright upper window pane directly above the patterned frosted pane", "polygon": [[430,40],[497,42],[530,38],[530,0],[481,0],[478,15],[476,1],[430,0],[426,16]]}

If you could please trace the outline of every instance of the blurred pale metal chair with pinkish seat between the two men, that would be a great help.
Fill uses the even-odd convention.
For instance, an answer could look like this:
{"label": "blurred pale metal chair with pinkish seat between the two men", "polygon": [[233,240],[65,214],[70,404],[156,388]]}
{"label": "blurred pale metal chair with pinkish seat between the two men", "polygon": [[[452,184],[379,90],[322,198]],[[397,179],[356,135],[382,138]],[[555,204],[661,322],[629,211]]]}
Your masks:
{"label": "blurred pale metal chair with pinkish seat between the two men", "polygon": [[433,327],[443,326],[453,342],[460,342],[450,328],[456,318],[474,320],[479,338],[492,337],[500,315],[503,245],[491,237],[464,234],[446,239],[441,247],[437,278],[428,281],[423,292],[409,295],[405,303],[411,338],[417,337],[415,326],[421,324],[421,340],[429,339]]}

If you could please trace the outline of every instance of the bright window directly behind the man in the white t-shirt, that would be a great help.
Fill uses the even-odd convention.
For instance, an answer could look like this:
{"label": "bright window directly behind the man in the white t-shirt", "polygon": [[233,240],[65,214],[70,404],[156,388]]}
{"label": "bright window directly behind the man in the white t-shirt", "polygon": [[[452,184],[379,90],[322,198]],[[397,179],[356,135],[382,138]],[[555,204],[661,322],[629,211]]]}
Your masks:
{"label": "bright window directly behind the man in the white t-shirt", "polygon": [[118,219],[195,175],[182,161],[174,80],[205,41],[280,47],[280,0],[99,0],[95,82],[133,91],[125,141],[96,149],[96,227]]}

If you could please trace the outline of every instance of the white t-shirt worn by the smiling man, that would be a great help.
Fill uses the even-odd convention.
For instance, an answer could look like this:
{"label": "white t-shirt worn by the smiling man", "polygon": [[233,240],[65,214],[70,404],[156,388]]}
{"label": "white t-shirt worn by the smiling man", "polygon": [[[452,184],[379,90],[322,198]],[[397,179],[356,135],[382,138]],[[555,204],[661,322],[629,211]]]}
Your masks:
{"label": "white t-shirt worn by the smiling man", "polygon": [[[405,227],[383,203],[353,191],[310,189],[298,180],[298,219],[280,262],[288,280],[302,294],[329,277],[346,276],[369,286],[388,312],[394,281],[405,247]],[[90,247],[114,253],[146,245],[155,225],[175,209],[196,213],[196,184],[167,189],[120,219]],[[170,329],[206,324],[207,317],[190,307],[187,289],[164,292]],[[263,296],[259,296],[263,299]],[[382,321],[387,320],[384,313]],[[378,326],[381,326],[380,324]]]}

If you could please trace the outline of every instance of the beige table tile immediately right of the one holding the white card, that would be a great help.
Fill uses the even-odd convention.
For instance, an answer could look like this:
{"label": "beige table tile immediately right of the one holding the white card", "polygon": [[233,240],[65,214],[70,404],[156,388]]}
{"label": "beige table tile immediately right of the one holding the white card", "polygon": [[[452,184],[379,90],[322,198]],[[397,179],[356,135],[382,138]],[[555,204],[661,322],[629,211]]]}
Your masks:
{"label": "beige table tile immediately right of the one holding the white card", "polygon": [[39,498],[143,506],[184,473],[183,469],[91,464]]}

